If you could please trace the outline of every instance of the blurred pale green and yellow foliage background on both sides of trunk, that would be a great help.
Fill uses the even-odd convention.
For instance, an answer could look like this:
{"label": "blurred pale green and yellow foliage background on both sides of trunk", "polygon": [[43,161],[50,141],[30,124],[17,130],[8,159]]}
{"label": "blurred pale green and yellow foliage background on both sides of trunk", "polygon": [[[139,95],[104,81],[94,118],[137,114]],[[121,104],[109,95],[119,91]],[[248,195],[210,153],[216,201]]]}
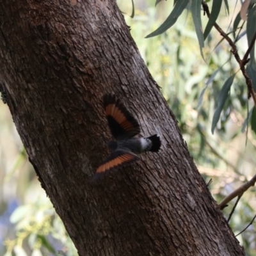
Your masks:
{"label": "blurred pale green and yellow foliage background on both sides of trunk", "polygon": [[[252,100],[239,65],[230,46],[213,28],[205,40],[204,56],[200,55],[191,13],[184,12],[166,33],[145,38],[159,28],[173,9],[173,1],[118,0],[131,35],[147,63],[150,73],[161,86],[161,92],[179,121],[180,131],[199,172],[208,183],[217,202],[255,175],[255,132],[247,119]],[[229,14],[224,4],[218,24],[237,38],[241,57],[248,48],[245,25],[239,22],[231,33],[241,1],[229,1]],[[232,3],[231,3],[232,2]],[[211,1],[209,1],[211,10]],[[207,24],[202,15],[203,28]],[[225,81],[236,74],[214,134],[212,117],[218,95]],[[247,125],[247,121],[248,125]],[[77,255],[63,223],[41,188],[26,151],[13,124],[6,104],[0,100],[0,256],[9,255]],[[228,219],[234,202],[223,210]],[[255,188],[252,187],[237,204],[229,221],[234,234],[241,232],[256,213]],[[256,255],[255,223],[237,236],[246,255]]]}

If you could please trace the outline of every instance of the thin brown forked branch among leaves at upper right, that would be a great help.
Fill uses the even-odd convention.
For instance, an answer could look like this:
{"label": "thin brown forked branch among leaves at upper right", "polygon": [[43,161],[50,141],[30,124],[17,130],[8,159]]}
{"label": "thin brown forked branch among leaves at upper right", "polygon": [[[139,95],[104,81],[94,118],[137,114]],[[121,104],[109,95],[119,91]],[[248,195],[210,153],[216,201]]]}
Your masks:
{"label": "thin brown forked branch among leaves at upper right", "polygon": [[[204,9],[204,12],[207,14],[207,17],[209,18],[210,11],[209,11],[209,7],[208,7],[207,3],[205,3],[205,1],[202,1],[202,6]],[[247,84],[248,99],[250,99],[250,97],[252,96],[254,105],[256,106],[256,95],[253,90],[252,79],[250,79],[250,76],[248,75],[248,73],[244,67],[244,65],[246,65],[248,63],[248,59],[247,59],[248,55],[247,55],[247,57],[246,57],[246,55],[244,55],[244,57],[246,57],[246,58],[243,58],[243,60],[241,60],[241,58],[237,52],[237,47],[234,44],[234,42],[231,40],[231,38],[220,28],[220,26],[216,22],[214,23],[213,26],[214,26],[214,28],[217,29],[217,31],[220,33],[220,35],[223,36],[223,38],[225,38],[225,40],[227,40],[228,44],[231,46],[231,48],[232,48],[231,52],[234,55],[234,57],[236,58],[237,62],[239,63],[240,69],[243,73],[243,76],[244,76],[246,84]],[[250,44],[251,49],[253,47],[253,44],[255,43],[255,40],[256,40],[256,35],[253,36],[253,40]],[[248,48],[248,50],[250,49],[250,47]],[[250,53],[250,51],[249,51],[249,53]],[[247,54],[247,51],[246,51],[246,54]]]}

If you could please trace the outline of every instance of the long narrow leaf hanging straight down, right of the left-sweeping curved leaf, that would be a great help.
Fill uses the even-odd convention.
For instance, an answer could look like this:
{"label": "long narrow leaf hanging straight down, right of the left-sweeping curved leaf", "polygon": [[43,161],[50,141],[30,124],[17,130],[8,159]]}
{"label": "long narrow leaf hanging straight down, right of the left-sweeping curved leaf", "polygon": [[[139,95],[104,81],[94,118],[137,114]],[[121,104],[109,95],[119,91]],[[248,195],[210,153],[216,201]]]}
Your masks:
{"label": "long narrow leaf hanging straight down, right of the left-sweeping curved leaf", "polygon": [[204,54],[203,54],[204,35],[203,35],[202,21],[201,21],[201,4],[202,4],[201,0],[191,0],[191,12],[192,12],[193,22],[196,29],[196,36],[198,38],[201,56],[204,59]]}

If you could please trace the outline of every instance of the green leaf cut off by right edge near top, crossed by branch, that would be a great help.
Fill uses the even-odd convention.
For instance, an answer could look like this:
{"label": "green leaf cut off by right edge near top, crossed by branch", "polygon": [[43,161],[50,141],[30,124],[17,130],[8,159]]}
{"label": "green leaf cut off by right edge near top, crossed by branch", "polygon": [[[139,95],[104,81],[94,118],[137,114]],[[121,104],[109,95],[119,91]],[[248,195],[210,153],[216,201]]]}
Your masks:
{"label": "green leaf cut off by right edge near top, crossed by branch", "polygon": [[[256,6],[254,6],[248,13],[248,20],[246,22],[248,46],[251,44],[252,38],[253,38],[254,34],[256,33],[255,24],[256,24]],[[252,47],[252,51],[250,52],[250,58],[251,58],[252,62],[255,61],[254,51],[255,51],[255,43]]]}

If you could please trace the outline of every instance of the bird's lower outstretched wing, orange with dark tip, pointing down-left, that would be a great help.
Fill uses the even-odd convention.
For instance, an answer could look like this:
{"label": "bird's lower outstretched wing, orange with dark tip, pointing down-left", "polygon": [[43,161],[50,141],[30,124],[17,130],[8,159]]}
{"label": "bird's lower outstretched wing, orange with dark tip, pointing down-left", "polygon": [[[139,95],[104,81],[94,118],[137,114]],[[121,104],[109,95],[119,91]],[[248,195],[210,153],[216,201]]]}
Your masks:
{"label": "bird's lower outstretched wing, orange with dark tip, pointing down-left", "polygon": [[93,180],[99,179],[106,173],[116,170],[120,166],[125,166],[133,161],[136,161],[139,157],[132,152],[126,150],[116,150],[113,152],[102,164],[97,168]]}

